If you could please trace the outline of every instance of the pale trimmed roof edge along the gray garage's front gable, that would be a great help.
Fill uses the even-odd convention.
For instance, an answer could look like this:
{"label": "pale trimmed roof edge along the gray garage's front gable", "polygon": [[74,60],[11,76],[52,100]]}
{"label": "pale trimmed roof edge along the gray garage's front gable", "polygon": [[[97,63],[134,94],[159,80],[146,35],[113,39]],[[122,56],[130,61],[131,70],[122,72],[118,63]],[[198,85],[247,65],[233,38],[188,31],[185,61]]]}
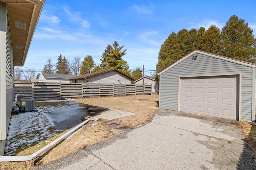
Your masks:
{"label": "pale trimmed roof edge along the gray garage's front gable", "polygon": [[202,51],[202,50],[195,49],[191,53],[185,55],[184,57],[182,57],[181,59],[179,59],[178,61],[173,63],[172,65],[170,65],[170,66],[166,67],[164,70],[160,71],[158,73],[158,75],[166,72],[166,70],[169,70],[170,68],[172,68],[176,64],[182,62],[183,60],[185,60],[188,57],[191,57],[191,55],[193,55],[195,53],[200,53],[200,54],[203,54],[203,55],[208,55],[210,57],[215,57],[215,58],[218,58],[218,59],[222,59],[222,60],[230,61],[230,62],[233,62],[233,63],[242,64],[242,65],[245,65],[245,66],[250,66],[250,67],[255,67],[256,68],[256,63],[252,63],[250,61],[244,61],[244,60],[235,59],[235,58],[232,58],[232,57],[227,57],[227,56],[224,56],[224,55],[219,55],[219,54],[210,53],[210,52],[207,52],[207,51]]}

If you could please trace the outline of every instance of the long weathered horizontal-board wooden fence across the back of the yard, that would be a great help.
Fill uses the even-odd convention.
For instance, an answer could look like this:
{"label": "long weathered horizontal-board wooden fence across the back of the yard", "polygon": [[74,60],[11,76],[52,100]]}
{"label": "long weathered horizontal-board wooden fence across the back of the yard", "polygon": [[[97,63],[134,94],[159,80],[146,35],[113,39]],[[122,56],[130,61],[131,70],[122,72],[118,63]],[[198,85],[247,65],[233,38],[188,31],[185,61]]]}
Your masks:
{"label": "long weathered horizontal-board wooden fence across the back of the yard", "polygon": [[[145,84],[144,94],[151,94],[151,84]],[[90,84],[15,82],[14,95],[35,100],[60,100],[102,96],[126,96],[143,94],[142,84]]]}

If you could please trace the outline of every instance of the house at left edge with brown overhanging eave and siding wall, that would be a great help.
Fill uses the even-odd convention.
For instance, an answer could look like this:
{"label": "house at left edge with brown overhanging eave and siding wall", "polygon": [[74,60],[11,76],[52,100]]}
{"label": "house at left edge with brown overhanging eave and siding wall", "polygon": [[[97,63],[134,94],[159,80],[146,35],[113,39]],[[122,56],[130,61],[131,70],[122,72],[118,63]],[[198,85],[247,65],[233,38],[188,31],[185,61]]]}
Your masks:
{"label": "house at left edge with brown overhanging eave and siding wall", "polygon": [[23,66],[44,0],[0,0],[0,155],[14,103],[14,65]]}

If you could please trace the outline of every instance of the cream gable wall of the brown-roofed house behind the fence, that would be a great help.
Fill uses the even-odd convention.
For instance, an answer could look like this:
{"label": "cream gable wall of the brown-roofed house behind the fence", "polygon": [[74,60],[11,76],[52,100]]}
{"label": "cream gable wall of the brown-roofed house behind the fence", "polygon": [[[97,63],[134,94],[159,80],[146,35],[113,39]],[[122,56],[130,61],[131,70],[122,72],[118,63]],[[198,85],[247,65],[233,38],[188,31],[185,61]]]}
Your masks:
{"label": "cream gable wall of the brown-roofed house behind the fence", "polygon": [[[118,81],[120,80],[120,81]],[[127,78],[126,76],[116,72],[116,71],[110,71],[105,72],[99,75],[92,76],[88,78],[87,80],[76,80],[76,83],[103,83],[103,84],[131,84],[130,78]]]}

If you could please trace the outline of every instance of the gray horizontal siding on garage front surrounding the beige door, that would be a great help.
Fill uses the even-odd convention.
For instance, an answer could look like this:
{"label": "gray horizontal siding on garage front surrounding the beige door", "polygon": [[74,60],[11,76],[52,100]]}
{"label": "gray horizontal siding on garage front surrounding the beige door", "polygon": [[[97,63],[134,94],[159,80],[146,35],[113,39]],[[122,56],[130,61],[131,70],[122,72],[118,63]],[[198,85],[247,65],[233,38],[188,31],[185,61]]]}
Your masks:
{"label": "gray horizontal siding on garage front surrounding the beige door", "polygon": [[[188,57],[160,74],[160,102],[162,109],[178,110],[178,82],[182,76],[214,76],[241,74],[241,120],[252,120],[252,67],[232,63],[196,53],[197,59]],[[255,77],[254,77],[255,78]]]}

